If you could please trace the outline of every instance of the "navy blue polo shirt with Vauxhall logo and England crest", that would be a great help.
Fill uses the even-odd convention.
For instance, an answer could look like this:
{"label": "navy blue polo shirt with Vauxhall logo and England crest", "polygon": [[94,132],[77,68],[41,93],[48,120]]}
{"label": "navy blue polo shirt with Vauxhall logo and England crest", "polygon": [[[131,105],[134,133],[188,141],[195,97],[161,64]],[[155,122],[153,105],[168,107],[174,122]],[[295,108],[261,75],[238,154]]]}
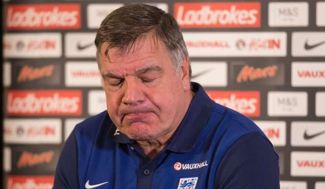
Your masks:
{"label": "navy blue polo shirt with Vauxhall logo and England crest", "polygon": [[152,160],[116,130],[107,111],[76,125],[54,189],[280,189],[278,156],[247,117],[195,96],[170,142]]}

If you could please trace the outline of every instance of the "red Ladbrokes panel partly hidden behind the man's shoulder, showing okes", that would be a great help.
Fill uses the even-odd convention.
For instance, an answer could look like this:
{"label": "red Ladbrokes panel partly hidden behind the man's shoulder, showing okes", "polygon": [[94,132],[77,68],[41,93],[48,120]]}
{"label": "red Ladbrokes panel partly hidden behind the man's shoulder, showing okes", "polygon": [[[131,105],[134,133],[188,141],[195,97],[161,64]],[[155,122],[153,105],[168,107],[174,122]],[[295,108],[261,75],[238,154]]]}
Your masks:
{"label": "red Ladbrokes panel partly hidden behind the man's shoulder, showing okes", "polygon": [[259,91],[207,91],[207,93],[216,103],[246,116],[260,116]]}

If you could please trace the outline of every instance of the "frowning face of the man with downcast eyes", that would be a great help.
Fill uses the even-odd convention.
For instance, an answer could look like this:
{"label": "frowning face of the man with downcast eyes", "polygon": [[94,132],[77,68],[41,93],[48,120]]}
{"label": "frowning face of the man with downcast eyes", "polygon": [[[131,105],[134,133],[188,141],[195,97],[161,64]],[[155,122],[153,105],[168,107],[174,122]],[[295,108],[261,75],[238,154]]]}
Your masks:
{"label": "frowning face of the man with downcast eyes", "polygon": [[[123,134],[135,140],[158,139],[174,132],[192,98],[188,61],[175,74],[164,44],[148,35],[129,53],[101,46],[101,74],[107,110]],[[133,51],[134,50],[134,51]]]}

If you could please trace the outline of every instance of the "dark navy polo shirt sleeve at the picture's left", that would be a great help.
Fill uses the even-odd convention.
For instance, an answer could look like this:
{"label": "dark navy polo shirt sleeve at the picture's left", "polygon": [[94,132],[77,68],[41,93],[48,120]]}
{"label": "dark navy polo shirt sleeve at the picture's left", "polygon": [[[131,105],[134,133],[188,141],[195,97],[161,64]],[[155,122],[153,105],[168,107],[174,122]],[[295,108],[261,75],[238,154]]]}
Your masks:
{"label": "dark navy polo shirt sleeve at the picture's left", "polygon": [[53,189],[79,189],[78,180],[78,148],[76,137],[72,132],[61,152]]}

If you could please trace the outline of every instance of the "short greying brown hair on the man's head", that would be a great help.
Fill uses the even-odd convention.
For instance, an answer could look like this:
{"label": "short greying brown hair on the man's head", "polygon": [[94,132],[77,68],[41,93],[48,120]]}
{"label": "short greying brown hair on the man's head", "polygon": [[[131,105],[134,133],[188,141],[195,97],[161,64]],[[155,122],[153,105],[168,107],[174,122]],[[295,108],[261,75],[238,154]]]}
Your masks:
{"label": "short greying brown hair on the man's head", "polygon": [[[162,9],[142,3],[124,5],[102,21],[95,38],[98,68],[101,68],[100,48],[104,42],[108,43],[105,50],[107,57],[111,48],[119,48],[129,53],[134,51],[136,40],[144,40],[150,33],[154,34],[156,40],[162,40],[170,54],[175,73],[179,73],[181,64],[185,58],[189,58],[189,53],[176,20]],[[190,62],[189,74],[191,77]]]}

